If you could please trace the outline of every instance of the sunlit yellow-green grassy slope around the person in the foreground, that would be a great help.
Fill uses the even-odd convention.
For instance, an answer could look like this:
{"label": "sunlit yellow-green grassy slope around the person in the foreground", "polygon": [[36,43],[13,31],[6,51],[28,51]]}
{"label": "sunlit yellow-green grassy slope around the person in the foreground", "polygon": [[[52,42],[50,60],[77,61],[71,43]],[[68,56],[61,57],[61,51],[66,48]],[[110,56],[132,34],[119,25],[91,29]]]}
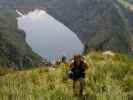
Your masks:
{"label": "sunlit yellow-green grassy slope around the person in the foreground", "polygon": [[[132,58],[90,53],[86,61],[90,70],[84,100],[133,100]],[[8,70],[0,76],[0,100],[77,100],[72,96],[72,82],[67,80],[66,70],[63,65],[56,70]]]}

